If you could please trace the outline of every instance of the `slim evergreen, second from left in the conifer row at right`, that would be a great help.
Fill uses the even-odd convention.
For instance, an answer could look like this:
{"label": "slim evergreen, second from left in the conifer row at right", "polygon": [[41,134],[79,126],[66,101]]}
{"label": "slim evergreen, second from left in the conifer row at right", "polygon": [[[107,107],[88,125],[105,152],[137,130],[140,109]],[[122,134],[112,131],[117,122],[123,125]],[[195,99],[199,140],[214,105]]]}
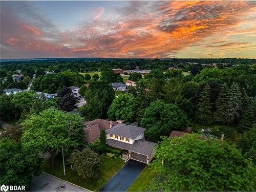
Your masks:
{"label": "slim evergreen, second from left in the conifer row at right", "polygon": [[216,100],[216,112],[214,116],[215,121],[222,124],[226,123],[228,93],[229,89],[227,87],[227,84],[224,83],[221,87],[221,92]]}

